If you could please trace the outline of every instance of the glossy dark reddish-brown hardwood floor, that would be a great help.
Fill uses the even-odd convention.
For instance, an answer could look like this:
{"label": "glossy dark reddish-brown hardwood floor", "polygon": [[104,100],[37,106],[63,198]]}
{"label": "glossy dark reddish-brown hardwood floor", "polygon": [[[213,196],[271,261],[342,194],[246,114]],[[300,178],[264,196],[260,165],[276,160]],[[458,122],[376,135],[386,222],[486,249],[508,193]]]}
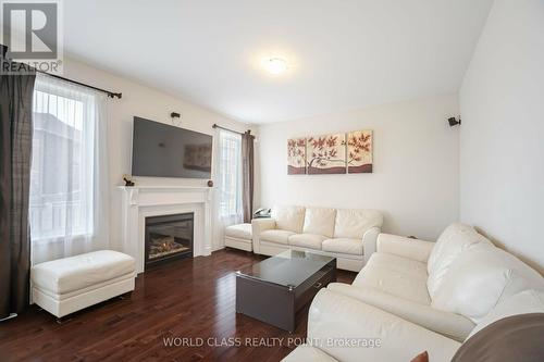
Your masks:
{"label": "glossy dark reddish-brown hardwood floor", "polygon": [[[294,334],[236,314],[234,272],[261,259],[221,250],[158,266],[138,276],[132,296],[62,324],[33,305],[0,323],[0,361],[279,361],[306,337],[308,308]],[[338,282],[355,275],[338,271]],[[165,346],[175,337],[178,346]]]}

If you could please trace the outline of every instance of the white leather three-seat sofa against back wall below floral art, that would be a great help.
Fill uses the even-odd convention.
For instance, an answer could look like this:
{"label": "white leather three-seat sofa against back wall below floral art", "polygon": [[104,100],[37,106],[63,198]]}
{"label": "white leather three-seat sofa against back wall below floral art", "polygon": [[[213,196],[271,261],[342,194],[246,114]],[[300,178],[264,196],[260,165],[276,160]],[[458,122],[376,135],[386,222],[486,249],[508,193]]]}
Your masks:
{"label": "white leather three-seat sofa against back wall below floral art", "polygon": [[271,219],[251,221],[254,252],[307,250],[335,257],[338,269],[358,272],[375,251],[382,223],[375,210],[274,207]]}

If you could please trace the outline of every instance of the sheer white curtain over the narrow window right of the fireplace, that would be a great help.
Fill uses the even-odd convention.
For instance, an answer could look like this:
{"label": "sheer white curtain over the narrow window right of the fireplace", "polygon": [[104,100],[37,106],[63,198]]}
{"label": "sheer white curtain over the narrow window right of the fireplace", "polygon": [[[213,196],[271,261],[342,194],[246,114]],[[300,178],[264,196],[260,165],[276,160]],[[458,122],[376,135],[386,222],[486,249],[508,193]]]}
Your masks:
{"label": "sheer white curtain over the narrow window right of the fireplace", "polygon": [[242,135],[217,128],[214,139],[214,247],[225,226],[242,223]]}

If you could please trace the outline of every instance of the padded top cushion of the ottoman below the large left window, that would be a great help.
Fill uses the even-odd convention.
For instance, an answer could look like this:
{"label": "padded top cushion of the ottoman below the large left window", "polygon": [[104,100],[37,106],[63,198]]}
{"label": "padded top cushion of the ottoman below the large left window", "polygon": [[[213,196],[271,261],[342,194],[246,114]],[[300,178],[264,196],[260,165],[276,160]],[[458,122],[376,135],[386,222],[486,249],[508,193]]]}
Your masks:
{"label": "padded top cushion of the ottoman below the large left window", "polygon": [[131,255],[100,250],[36,264],[30,270],[30,279],[39,289],[63,295],[134,271],[135,261]]}

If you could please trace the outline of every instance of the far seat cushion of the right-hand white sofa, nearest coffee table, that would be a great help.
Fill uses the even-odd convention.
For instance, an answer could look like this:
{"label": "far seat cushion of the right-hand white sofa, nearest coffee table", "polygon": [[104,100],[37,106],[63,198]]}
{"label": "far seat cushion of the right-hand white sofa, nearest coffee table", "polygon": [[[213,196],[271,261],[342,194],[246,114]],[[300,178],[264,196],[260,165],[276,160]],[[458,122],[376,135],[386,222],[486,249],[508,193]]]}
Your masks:
{"label": "far seat cushion of the right-hand white sofa, nearest coffee table", "polygon": [[353,285],[373,287],[384,292],[429,305],[424,263],[386,253],[373,253]]}

